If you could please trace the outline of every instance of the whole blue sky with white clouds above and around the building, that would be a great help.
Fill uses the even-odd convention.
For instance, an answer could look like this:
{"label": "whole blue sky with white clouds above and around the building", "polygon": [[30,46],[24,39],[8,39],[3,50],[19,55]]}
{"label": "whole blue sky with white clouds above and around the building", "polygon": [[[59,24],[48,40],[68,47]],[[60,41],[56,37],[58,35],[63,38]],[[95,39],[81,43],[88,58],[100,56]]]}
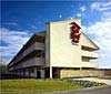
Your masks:
{"label": "whole blue sky with white clouds above and around the building", "polygon": [[95,62],[111,69],[111,0],[2,0],[0,4],[0,60],[7,64],[34,32],[46,30],[46,22],[81,18],[82,32],[100,46]]}

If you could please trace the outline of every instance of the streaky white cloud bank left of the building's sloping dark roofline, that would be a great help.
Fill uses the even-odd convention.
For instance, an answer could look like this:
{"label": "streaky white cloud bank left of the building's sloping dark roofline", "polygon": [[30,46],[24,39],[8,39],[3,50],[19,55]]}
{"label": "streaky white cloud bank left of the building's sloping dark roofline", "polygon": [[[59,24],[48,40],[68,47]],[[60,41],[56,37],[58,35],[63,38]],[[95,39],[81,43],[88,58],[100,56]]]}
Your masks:
{"label": "streaky white cloud bank left of the building's sloping dark roofline", "polygon": [[0,45],[0,55],[8,63],[28,41],[29,34],[24,31],[10,31],[4,28],[0,29],[0,41],[4,43]]}

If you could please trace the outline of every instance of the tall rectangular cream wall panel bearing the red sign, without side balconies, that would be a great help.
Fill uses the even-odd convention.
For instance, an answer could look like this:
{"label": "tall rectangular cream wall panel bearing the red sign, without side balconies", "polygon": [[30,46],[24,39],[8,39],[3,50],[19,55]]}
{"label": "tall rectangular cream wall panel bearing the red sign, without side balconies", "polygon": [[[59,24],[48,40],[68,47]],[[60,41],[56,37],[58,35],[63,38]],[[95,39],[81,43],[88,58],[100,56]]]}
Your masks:
{"label": "tall rectangular cream wall panel bearing the red sign, without side balconies", "polygon": [[[81,67],[81,46],[73,45],[70,39],[70,23],[73,20],[50,23],[50,65]],[[81,20],[75,20],[81,23]],[[81,24],[80,24],[81,25]]]}

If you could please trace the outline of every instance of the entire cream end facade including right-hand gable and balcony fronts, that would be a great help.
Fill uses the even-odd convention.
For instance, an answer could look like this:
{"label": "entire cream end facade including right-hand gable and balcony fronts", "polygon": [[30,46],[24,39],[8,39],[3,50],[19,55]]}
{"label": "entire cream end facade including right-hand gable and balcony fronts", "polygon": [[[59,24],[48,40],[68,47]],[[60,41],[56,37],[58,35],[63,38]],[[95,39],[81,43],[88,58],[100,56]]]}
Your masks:
{"label": "entire cream end facade including right-hand gable and balcony fronts", "polygon": [[[81,27],[81,20],[74,19],[74,21]],[[70,38],[70,23],[73,20],[50,22],[49,24],[49,63],[50,66],[57,67],[98,67],[99,65],[90,62],[82,62],[81,56],[99,58],[98,53],[92,51],[82,51],[81,46],[85,45],[98,49],[92,41],[87,38],[85,34],[81,34],[80,42],[78,45],[71,43]]]}

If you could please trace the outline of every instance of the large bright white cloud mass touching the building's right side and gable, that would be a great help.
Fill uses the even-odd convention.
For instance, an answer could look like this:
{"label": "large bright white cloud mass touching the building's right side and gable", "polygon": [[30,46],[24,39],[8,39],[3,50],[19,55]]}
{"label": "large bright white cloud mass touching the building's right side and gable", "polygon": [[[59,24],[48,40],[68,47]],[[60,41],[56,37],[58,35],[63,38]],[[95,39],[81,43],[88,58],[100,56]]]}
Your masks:
{"label": "large bright white cloud mass touching the building's right side and gable", "polygon": [[101,21],[83,27],[82,30],[100,46],[100,67],[111,69],[111,17],[108,14]]}

